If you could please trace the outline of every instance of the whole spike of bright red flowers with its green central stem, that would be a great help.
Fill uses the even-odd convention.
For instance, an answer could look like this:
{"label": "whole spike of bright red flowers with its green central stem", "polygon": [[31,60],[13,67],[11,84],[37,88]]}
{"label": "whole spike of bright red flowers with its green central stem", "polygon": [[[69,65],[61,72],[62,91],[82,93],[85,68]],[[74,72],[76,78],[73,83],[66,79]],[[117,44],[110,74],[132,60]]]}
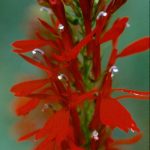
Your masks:
{"label": "whole spike of bright red flowers with its green central stem", "polygon": [[[48,21],[38,19],[42,29],[35,31],[35,39],[12,44],[13,52],[45,73],[42,79],[11,88],[19,101],[26,99],[16,107],[17,115],[32,114],[29,120],[34,122],[31,131],[19,141],[34,137],[35,150],[115,150],[117,145],[141,138],[140,129],[119,101],[148,100],[149,92],[112,87],[113,76],[118,72],[116,61],[149,49],[149,37],[143,37],[118,50],[128,17],[117,18],[111,27],[108,25],[125,2],[38,0]],[[103,68],[101,50],[106,42],[112,46]],[[114,97],[113,93],[121,96]],[[115,128],[137,134],[115,140]]]}

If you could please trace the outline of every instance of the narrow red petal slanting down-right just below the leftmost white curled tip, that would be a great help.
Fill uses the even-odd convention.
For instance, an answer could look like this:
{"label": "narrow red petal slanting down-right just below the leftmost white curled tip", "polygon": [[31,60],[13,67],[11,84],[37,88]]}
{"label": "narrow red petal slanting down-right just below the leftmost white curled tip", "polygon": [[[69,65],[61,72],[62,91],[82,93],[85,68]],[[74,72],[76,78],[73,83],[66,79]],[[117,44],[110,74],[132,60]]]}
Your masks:
{"label": "narrow red petal slanting down-right just below the leftmost white curled tip", "polygon": [[34,65],[34,66],[36,66],[36,67],[38,67],[38,68],[40,68],[40,69],[42,69],[42,70],[48,72],[49,74],[51,74],[50,69],[49,69],[48,67],[44,66],[43,64],[41,64],[40,62],[37,62],[37,61],[33,60],[32,58],[30,58],[30,57],[28,57],[28,56],[25,56],[25,55],[23,55],[23,54],[19,54],[19,55],[20,55],[24,60],[26,60],[27,62],[29,62],[30,64],[32,64],[32,65]]}

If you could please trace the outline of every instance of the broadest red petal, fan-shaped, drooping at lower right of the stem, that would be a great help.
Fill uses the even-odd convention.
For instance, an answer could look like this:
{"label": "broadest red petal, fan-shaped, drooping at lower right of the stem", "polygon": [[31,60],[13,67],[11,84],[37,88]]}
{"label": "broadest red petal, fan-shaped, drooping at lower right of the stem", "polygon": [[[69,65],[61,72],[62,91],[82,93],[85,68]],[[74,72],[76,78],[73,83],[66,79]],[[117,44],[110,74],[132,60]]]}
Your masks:
{"label": "broadest red petal, fan-shaped, drooping at lower right of the stem", "polygon": [[105,125],[120,128],[128,132],[130,129],[139,131],[130,113],[116,99],[103,99],[100,105],[100,119]]}

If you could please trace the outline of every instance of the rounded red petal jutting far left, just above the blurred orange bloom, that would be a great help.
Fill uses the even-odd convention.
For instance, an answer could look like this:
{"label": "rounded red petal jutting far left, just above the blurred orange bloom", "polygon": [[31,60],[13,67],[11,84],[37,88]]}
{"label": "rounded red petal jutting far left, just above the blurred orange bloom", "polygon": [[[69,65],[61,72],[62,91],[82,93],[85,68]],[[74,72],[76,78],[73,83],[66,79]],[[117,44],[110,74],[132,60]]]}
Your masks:
{"label": "rounded red petal jutting far left, just above the blurred orange bloom", "polygon": [[48,81],[48,79],[41,79],[21,82],[14,85],[11,88],[11,92],[15,93],[16,96],[26,96],[42,88],[45,84],[48,83]]}

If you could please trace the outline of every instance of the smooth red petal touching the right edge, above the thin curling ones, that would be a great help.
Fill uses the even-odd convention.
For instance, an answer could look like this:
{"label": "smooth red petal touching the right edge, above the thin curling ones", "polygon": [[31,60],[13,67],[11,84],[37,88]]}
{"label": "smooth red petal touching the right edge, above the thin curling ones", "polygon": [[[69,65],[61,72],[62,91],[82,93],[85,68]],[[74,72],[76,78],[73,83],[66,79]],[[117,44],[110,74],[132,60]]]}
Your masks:
{"label": "smooth red petal touching the right edge, above the thin curling ones", "polygon": [[122,52],[118,55],[118,57],[126,57],[134,55],[136,53],[141,53],[148,50],[149,48],[150,48],[150,38],[145,37],[131,43],[129,46],[124,48]]}

